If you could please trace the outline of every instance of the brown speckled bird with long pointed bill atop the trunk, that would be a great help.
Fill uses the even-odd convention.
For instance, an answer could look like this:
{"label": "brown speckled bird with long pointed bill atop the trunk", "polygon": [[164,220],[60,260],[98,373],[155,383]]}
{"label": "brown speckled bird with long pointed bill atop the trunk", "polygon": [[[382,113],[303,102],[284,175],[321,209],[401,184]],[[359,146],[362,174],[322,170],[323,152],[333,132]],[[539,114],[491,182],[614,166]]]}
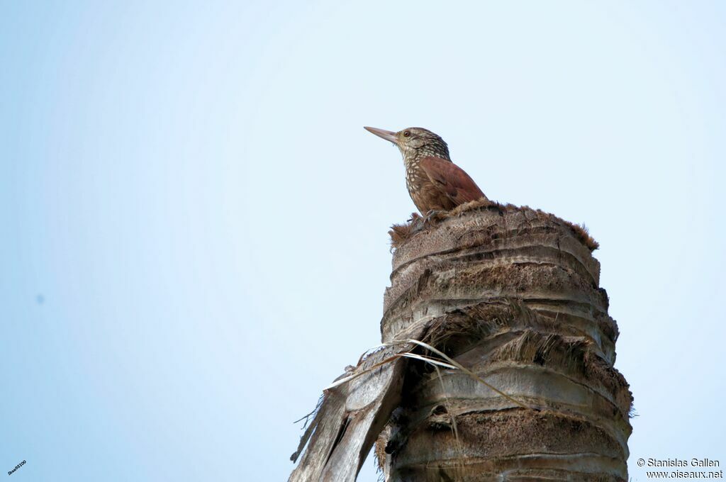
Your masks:
{"label": "brown speckled bird with long pointed bill atop the trunk", "polygon": [[364,127],[399,148],[406,167],[406,187],[416,208],[426,218],[439,211],[451,211],[458,205],[489,200],[476,182],[449,157],[449,146],[422,127],[398,132]]}

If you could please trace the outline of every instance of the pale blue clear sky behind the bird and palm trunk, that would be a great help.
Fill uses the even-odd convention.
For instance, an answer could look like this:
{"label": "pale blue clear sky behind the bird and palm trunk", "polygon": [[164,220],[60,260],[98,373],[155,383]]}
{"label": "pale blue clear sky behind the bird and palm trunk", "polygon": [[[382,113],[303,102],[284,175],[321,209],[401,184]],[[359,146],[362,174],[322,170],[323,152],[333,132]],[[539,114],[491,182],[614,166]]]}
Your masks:
{"label": "pale blue clear sky behind the bird and palm trunk", "polygon": [[[639,457],[726,464],[718,1],[0,1],[0,472],[285,480],[379,340],[397,150],[584,222]],[[372,463],[360,481],[375,481]]]}

